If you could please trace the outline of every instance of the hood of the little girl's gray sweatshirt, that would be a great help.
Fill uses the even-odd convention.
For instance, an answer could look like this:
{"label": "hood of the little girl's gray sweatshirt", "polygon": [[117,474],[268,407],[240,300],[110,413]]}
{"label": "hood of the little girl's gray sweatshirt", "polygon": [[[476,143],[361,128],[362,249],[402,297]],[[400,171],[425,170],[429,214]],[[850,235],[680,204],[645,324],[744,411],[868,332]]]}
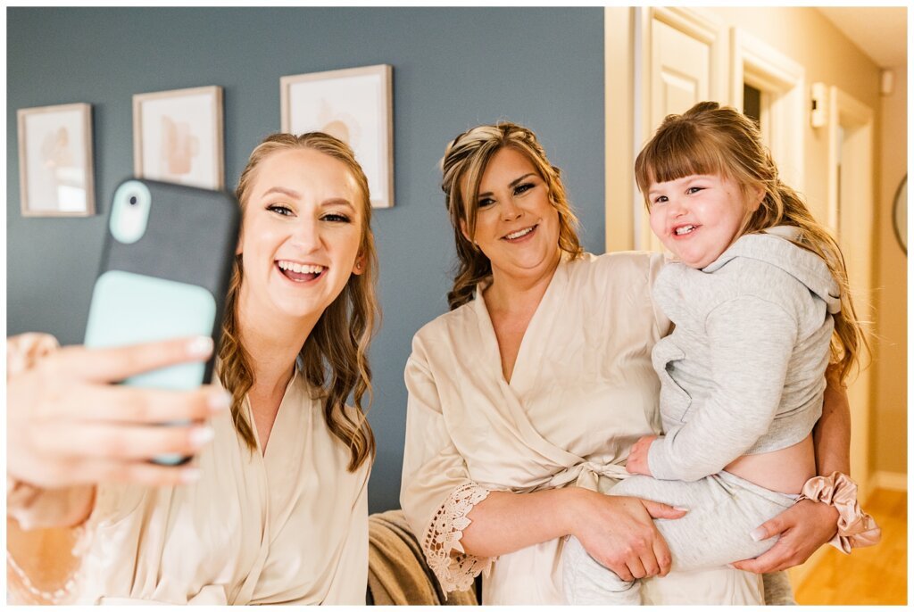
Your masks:
{"label": "hood of the little girl's gray sweatshirt", "polygon": [[763,234],[740,237],[720,257],[702,269],[714,272],[736,258],[759,259],[782,269],[799,280],[827,304],[832,314],[841,310],[841,291],[828,266],[818,255],[793,244],[800,229],[792,226],[769,227]]}

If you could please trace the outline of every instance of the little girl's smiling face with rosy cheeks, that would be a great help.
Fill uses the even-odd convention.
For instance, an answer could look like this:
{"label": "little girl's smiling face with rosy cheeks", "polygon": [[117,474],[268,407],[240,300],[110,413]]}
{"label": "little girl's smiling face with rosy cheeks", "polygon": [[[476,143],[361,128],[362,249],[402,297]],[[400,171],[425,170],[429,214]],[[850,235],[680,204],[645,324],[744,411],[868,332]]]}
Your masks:
{"label": "little girl's smiling face with rosy cheeks", "polygon": [[704,268],[739,236],[739,227],[756,210],[764,192],[744,201],[739,185],[717,174],[691,174],[648,190],[651,229],[678,259]]}

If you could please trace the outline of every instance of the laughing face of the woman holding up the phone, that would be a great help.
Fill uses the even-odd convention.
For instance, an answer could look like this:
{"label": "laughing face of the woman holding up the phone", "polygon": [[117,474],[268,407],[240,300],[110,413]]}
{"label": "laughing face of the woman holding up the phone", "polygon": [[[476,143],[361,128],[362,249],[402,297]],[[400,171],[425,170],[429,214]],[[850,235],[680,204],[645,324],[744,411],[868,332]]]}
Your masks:
{"label": "laughing face of the woman holding up the phone", "polygon": [[314,149],[271,153],[256,173],[239,239],[242,294],[261,314],[316,319],[360,273],[356,181]]}

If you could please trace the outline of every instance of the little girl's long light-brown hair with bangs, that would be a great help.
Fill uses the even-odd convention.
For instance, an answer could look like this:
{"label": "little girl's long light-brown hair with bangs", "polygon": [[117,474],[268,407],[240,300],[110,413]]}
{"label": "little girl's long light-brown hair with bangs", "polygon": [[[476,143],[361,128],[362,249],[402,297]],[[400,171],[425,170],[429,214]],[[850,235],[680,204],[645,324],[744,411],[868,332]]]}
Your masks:
{"label": "little girl's long light-brown hair with bangs", "polygon": [[699,102],[681,115],[668,115],[638,154],[634,173],[648,209],[651,185],[691,174],[717,174],[734,181],[744,202],[762,190],[759,208],[750,212],[747,207],[736,237],[781,225],[799,228],[795,244],[824,259],[841,290],[841,311],[834,315],[831,346],[831,361],[839,365],[839,381],[843,383],[853,367],[859,366],[868,344],[851,300],[841,248],[813,218],[801,195],[781,182],[754,121],[717,102]]}

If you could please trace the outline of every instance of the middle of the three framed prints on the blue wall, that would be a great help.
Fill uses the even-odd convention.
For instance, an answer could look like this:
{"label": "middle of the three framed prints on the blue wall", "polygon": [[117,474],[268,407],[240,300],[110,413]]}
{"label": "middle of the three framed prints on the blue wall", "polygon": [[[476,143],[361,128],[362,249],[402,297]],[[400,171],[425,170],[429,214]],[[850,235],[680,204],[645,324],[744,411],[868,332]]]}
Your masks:
{"label": "middle of the three framed prints on the blue wall", "polygon": [[133,173],[154,181],[222,189],[222,88],[134,95]]}

